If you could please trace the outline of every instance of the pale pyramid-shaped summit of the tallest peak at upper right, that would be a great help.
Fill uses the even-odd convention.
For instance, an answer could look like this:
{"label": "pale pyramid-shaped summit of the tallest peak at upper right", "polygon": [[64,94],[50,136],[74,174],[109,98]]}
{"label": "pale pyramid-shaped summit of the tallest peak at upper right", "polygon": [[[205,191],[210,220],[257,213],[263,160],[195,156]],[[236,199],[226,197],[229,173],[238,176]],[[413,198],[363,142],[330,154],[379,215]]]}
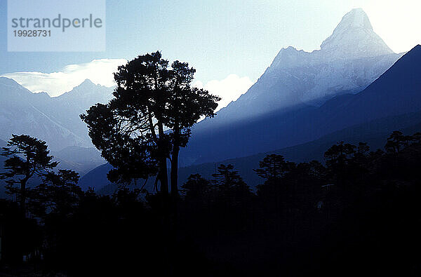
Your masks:
{"label": "pale pyramid-shaped summit of the tallest peak at upper right", "polygon": [[362,8],[344,15],[333,34],[321,43],[321,50],[339,58],[387,55],[393,51],[378,36]]}

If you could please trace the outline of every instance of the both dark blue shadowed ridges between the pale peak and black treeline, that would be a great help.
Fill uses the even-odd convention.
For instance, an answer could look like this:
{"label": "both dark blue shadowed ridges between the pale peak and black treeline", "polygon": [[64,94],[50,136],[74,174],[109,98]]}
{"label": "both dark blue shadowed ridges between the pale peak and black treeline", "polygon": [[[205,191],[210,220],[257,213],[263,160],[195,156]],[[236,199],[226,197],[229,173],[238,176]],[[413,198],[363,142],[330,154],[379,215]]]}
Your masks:
{"label": "both dark blue shadowed ridges between the pale peak and black treeline", "polygon": [[[252,187],[261,180],[253,168],[266,154],[283,154],[289,161],[322,161],[323,152],[340,142],[368,142],[372,149],[382,148],[393,130],[408,134],[421,131],[421,46],[416,46],[398,60],[366,89],[357,94],[338,95],[321,107],[303,107],[289,114],[269,116],[248,121],[231,128],[215,130],[202,139],[201,153],[211,157],[241,156],[276,143],[299,142],[291,147],[272,148],[243,158],[221,158],[180,168],[179,180],[185,182],[190,174],[211,177],[220,163],[232,163]],[[313,138],[313,140],[312,140]],[[281,144],[280,143],[280,144]],[[183,151],[189,151],[183,149]],[[206,156],[205,156],[206,157]],[[81,179],[82,187],[109,184],[110,165],[101,165]],[[102,191],[110,192],[109,185]]]}

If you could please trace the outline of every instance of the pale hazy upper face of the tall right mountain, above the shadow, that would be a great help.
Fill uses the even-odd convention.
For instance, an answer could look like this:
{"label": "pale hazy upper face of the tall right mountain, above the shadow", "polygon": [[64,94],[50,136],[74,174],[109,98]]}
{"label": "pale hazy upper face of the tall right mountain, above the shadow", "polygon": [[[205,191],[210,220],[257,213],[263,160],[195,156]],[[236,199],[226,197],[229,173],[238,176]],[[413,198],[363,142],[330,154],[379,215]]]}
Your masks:
{"label": "pale hazy upper face of the tall right mountain, above the shadow", "polygon": [[199,123],[194,131],[207,132],[302,104],[317,106],[333,95],[358,93],[401,55],[393,53],[375,34],[363,10],[354,9],[342,18],[320,50],[281,49],[247,93],[221,109],[215,119]]}

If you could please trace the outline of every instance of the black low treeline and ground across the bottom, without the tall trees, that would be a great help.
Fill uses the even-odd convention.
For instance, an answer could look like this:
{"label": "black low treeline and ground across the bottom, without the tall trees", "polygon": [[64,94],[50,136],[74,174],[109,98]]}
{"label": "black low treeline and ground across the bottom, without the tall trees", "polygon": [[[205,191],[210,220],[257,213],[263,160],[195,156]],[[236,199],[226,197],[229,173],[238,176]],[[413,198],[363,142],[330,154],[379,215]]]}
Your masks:
{"label": "black low treeline and ground across the bottom, without the tall trees", "polygon": [[[171,233],[161,201],[168,196],[123,187],[98,196],[81,191],[70,170],[40,172],[43,182],[27,187],[25,214],[22,201],[0,203],[3,270],[418,276],[421,134],[394,132],[384,151],[340,142],[324,156],[325,163],[266,156],[255,169],[265,181],[254,192],[232,165],[220,165],[211,180],[191,175]],[[19,189],[8,191],[21,199]]]}

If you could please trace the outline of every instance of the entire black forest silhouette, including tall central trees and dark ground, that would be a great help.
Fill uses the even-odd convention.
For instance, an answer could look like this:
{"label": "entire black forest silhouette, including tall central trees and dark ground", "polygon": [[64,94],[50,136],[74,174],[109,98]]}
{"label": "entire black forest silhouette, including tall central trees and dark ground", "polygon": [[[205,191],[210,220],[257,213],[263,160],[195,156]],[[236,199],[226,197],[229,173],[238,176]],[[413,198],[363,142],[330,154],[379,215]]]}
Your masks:
{"label": "entire black forest silhouette, including tall central trees and dark ground", "polygon": [[[83,191],[35,137],[13,135],[3,148],[2,273],[418,276],[421,133],[394,131],[375,151],[338,142],[323,161],[270,154],[255,166],[255,188],[229,164],[179,185],[179,152],[219,97],[159,52],[114,77],[114,98],[81,115],[114,167],[114,194]],[[149,178],[153,191],[138,182]]]}

